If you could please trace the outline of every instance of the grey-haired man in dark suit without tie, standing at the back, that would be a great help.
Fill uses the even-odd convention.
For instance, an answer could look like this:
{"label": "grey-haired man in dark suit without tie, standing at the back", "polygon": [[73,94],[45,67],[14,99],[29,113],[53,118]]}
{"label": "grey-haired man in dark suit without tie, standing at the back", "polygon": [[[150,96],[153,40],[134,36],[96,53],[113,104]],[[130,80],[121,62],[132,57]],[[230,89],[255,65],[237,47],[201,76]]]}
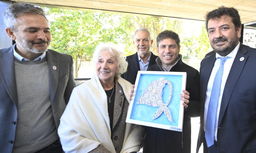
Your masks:
{"label": "grey-haired man in dark suit without tie, standing at the back", "polygon": [[138,71],[146,71],[149,66],[156,64],[155,60],[158,57],[150,51],[153,39],[147,28],[139,28],[135,31],[133,43],[137,52],[126,57],[127,71],[121,75],[131,84],[135,84]]}

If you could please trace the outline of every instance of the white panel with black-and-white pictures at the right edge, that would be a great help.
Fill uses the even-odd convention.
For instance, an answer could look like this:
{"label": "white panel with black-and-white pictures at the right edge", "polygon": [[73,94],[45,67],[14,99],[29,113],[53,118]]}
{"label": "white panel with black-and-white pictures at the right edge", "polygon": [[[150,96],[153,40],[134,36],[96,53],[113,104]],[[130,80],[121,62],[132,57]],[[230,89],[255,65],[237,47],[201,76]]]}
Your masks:
{"label": "white panel with black-and-white pictures at the right edge", "polygon": [[256,29],[243,29],[243,44],[256,48]]}

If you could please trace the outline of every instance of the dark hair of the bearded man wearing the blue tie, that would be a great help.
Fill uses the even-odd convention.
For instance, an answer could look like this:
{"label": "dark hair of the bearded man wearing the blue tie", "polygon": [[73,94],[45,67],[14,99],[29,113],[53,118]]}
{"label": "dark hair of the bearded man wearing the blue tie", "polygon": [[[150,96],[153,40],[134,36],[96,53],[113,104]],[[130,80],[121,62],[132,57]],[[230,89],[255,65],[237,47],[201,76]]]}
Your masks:
{"label": "dark hair of the bearded man wearing the blue tie", "polygon": [[240,15],[234,7],[220,6],[218,9],[214,9],[206,13],[205,28],[208,31],[208,21],[213,18],[220,18],[223,15],[227,15],[232,18],[232,22],[235,24],[235,30],[242,25]]}

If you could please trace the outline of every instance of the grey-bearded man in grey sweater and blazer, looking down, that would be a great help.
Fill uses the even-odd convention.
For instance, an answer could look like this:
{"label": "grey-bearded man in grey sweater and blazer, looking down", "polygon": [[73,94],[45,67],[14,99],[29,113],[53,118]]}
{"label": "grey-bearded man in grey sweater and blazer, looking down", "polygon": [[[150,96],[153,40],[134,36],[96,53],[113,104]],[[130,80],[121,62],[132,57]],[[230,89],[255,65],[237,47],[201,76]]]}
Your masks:
{"label": "grey-bearded man in grey sweater and blazer, looking down", "polygon": [[4,21],[16,44],[0,50],[0,153],[62,152],[57,129],[76,86],[73,59],[48,49],[43,9],[14,3]]}

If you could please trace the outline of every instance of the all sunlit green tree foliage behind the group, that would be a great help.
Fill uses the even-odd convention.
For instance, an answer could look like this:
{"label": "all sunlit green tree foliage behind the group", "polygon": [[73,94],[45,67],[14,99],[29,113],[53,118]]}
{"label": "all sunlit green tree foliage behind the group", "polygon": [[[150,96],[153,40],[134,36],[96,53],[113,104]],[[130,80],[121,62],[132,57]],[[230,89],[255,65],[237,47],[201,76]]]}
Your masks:
{"label": "all sunlit green tree foliage behind the group", "polygon": [[[44,8],[51,27],[51,49],[72,55],[75,62],[75,77],[81,62],[91,61],[95,47],[100,42],[112,42],[124,48],[125,55],[136,52],[134,32],[141,27],[149,29],[154,43],[151,51],[157,55],[157,35],[164,30],[182,33],[181,20],[154,18],[114,13],[101,13],[71,9]],[[203,29],[203,27],[202,27]],[[185,59],[207,52],[208,35],[202,30],[199,38],[180,38],[181,54]],[[207,46],[208,45],[208,46]],[[202,54],[202,55],[200,55]]]}

